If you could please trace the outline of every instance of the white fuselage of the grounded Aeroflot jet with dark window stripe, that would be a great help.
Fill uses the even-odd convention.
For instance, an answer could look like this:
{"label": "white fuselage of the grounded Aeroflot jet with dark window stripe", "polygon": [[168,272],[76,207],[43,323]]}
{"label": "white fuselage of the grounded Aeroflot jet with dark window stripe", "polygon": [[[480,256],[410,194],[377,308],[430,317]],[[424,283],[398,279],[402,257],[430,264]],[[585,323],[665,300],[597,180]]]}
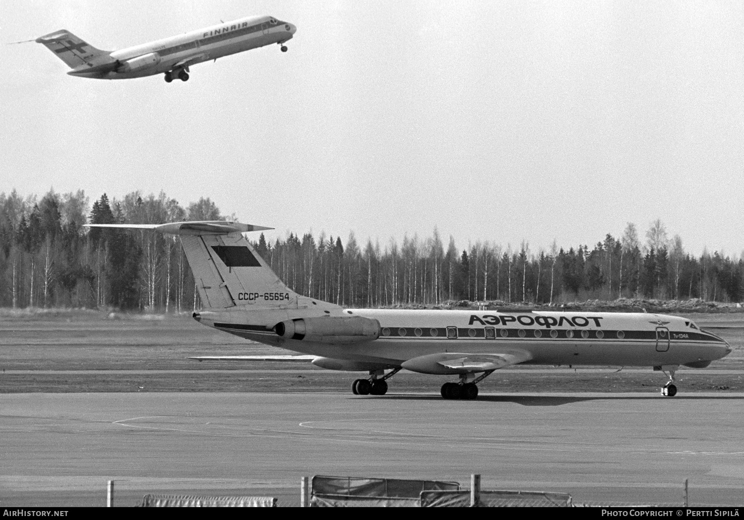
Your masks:
{"label": "white fuselage of the grounded Aeroflot jet with dark window stripe", "polygon": [[[278,321],[307,317],[302,309],[244,309],[200,312],[198,319],[218,330],[288,350],[385,367],[398,367],[414,358],[443,353],[482,356],[518,353],[525,359],[523,362],[540,365],[705,367],[731,352],[718,336],[699,330],[687,318],[670,315],[343,309],[341,315],[379,321],[379,338],[356,344],[327,344],[281,338],[272,330]],[[413,366],[417,370],[417,365]],[[423,366],[417,371],[462,372],[434,368]]]}

